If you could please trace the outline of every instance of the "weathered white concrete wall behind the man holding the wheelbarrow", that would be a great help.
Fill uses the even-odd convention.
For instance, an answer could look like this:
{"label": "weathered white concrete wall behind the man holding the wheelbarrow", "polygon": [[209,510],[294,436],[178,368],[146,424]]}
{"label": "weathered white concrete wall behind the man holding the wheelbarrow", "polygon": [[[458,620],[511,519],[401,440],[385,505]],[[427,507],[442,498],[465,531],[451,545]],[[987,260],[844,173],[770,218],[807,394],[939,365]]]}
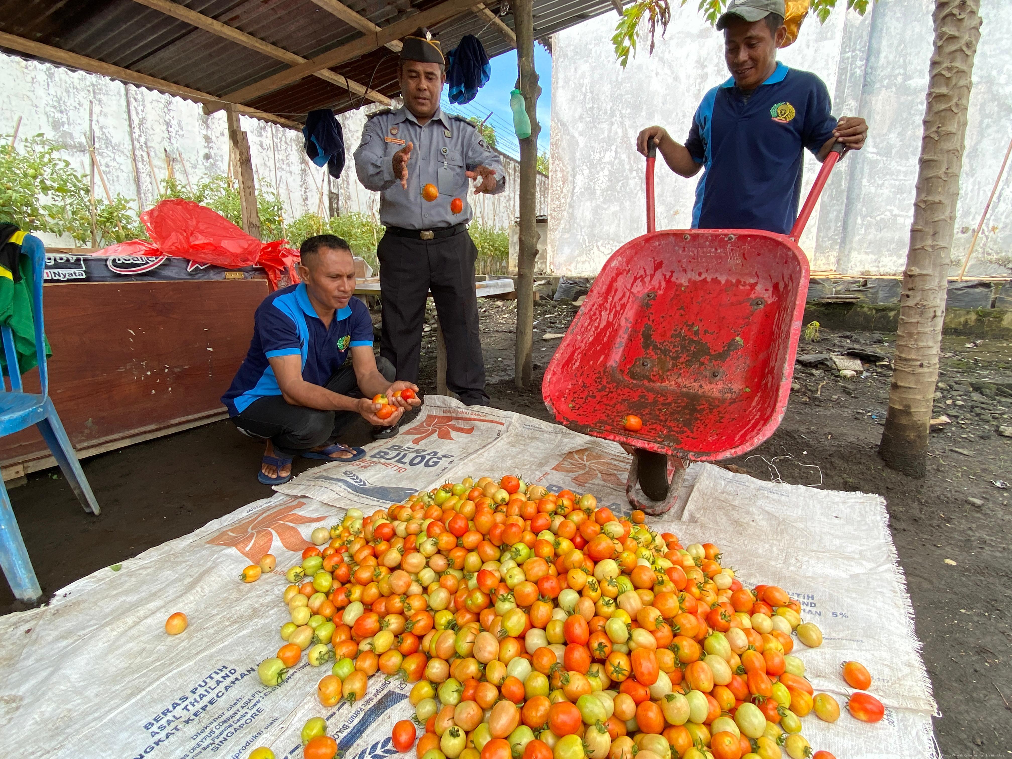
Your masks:
{"label": "weathered white concrete wall behind the man holding the wheelbarrow", "polygon": [[[974,69],[966,152],[960,179],[957,271],[1012,138],[1012,16],[1008,0],[982,0],[985,19]],[[614,250],[643,234],[644,159],[635,139],[665,125],[682,141],[710,87],[728,78],[722,35],[695,3],[673,4],[671,24],[653,57],[641,46],[623,71],[610,41],[615,17],[605,14],[555,36],[549,263],[561,274],[592,274]],[[842,7],[842,4],[840,5]],[[794,45],[779,52],[787,66],[813,71],[833,96],[833,112],[870,124],[864,150],[846,157],[802,238],[814,269],[896,274],[906,260],[932,48],[931,0],[871,3],[861,17],[834,11],[809,18]],[[818,164],[805,164],[805,191]],[[971,274],[1012,272],[1012,170],[1007,170]],[[675,176],[659,162],[657,225],[691,223],[696,178]]]}

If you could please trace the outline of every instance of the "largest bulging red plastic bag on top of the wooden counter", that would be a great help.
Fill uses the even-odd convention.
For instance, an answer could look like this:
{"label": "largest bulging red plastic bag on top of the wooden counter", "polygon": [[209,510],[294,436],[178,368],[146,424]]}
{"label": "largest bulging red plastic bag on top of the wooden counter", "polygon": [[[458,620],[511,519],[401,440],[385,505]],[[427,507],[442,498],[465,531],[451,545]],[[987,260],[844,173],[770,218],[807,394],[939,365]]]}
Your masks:
{"label": "largest bulging red plastic bag on top of the wooden counter", "polygon": [[161,255],[228,269],[252,266],[260,256],[259,240],[192,200],[162,200],[144,212],[141,222]]}

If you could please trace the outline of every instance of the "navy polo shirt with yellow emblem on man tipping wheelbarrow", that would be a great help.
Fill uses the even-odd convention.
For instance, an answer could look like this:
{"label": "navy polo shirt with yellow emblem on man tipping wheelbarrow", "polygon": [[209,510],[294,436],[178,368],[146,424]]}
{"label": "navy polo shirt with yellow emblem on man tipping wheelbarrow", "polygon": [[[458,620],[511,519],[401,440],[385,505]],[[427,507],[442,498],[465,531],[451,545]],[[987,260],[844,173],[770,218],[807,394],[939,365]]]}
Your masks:
{"label": "navy polo shirt with yellow emblem on man tipping wheelbarrow", "polygon": [[787,234],[802,196],[803,148],[818,153],[833,137],[829,91],[782,63],[751,97],[734,78],[703,97],[685,147],[704,167],[692,227]]}

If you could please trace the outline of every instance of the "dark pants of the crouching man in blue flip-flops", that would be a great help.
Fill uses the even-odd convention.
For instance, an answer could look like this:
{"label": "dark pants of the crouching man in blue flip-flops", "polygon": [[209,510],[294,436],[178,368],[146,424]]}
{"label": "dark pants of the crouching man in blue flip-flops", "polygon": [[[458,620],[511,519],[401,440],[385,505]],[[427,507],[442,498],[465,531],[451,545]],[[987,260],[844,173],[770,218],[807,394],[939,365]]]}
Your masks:
{"label": "dark pants of the crouching man in blue flip-flops", "polygon": [[[376,356],[376,368],[388,382],[394,382],[394,364]],[[351,361],[345,361],[324,387],[342,396],[362,397]],[[323,445],[357,416],[359,414],[354,411],[321,411],[292,406],[281,396],[268,396],[251,403],[239,416],[232,417],[232,421],[241,432],[250,437],[269,437],[278,453],[292,456]]]}

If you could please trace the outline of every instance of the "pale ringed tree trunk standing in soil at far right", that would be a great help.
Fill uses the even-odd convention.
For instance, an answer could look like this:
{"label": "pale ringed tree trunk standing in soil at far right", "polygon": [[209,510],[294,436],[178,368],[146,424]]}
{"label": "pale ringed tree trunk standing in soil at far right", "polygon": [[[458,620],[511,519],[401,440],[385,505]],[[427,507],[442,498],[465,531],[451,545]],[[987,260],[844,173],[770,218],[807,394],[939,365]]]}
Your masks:
{"label": "pale ringed tree trunk standing in soil at far right", "polygon": [[878,446],[887,466],[912,477],[924,477],[927,460],[974,55],[981,38],[980,7],[980,0],[935,2],[935,47],[900,296],[896,366]]}

